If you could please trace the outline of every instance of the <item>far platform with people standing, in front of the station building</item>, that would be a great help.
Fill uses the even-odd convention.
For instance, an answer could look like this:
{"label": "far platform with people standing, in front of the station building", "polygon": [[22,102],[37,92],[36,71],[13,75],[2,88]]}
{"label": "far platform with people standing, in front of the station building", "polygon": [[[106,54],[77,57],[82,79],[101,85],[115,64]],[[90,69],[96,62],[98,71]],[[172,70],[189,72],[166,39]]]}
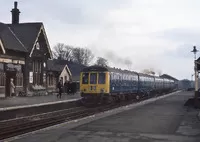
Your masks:
{"label": "far platform with people standing, in front of the station building", "polygon": [[62,95],[61,99],[56,95],[32,96],[32,97],[9,97],[0,99],[0,111],[15,108],[40,106],[45,104],[55,104],[61,102],[69,102],[80,99],[80,94]]}

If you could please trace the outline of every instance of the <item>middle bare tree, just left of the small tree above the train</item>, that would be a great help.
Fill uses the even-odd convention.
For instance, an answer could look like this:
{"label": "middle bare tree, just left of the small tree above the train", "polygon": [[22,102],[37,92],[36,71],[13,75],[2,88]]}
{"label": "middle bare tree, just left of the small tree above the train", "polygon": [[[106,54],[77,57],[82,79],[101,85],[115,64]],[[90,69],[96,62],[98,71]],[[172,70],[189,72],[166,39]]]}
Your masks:
{"label": "middle bare tree, just left of the small tree above the train", "polygon": [[72,50],[73,60],[78,64],[88,65],[92,59],[94,58],[94,55],[91,50],[88,48],[73,48]]}

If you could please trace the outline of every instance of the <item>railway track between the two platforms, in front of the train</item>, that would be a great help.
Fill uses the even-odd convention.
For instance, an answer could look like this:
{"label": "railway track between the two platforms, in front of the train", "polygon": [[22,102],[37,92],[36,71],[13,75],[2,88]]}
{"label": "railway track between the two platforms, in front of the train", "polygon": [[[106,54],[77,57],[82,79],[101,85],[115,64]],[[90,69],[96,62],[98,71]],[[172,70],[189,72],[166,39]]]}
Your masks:
{"label": "railway track between the two platforms, in front of the train", "polygon": [[[149,98],[149,97],[148,97]],[[143,98],[142,100],[146,100]],[[83,118],[103,111],[111,110],[117,107],[135,103],[135,100],[98,106],[94,108],[75,107],[44,114],[27,116],[23,118],[0,121],[0,140],[39,130],[63,122]]]}

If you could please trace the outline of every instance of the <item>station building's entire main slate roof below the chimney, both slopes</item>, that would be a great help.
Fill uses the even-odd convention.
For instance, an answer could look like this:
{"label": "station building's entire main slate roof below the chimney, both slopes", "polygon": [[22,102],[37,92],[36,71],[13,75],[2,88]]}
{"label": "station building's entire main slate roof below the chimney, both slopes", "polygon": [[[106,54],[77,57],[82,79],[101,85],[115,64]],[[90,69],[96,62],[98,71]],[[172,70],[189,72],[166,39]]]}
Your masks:
{"label": "station building's entire main slate roof below the chimney, both slopes", "polygon": [[31,52],[42,22],[5,24],[0,22],[0,39],[6,49]]}

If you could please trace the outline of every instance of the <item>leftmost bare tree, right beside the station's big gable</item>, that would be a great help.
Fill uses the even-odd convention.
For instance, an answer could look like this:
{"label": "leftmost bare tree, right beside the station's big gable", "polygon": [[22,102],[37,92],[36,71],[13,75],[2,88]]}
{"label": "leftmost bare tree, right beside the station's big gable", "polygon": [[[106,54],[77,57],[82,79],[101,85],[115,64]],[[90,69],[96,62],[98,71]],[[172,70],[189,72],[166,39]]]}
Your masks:
{"label": "leftmost bare tree, right beside the station's big gable", "polygon": [[72,60],[72,49],[73,47],[65,45],[64,43],[58,43],[53,47],[54,58],[60,57],[64,60]]}

